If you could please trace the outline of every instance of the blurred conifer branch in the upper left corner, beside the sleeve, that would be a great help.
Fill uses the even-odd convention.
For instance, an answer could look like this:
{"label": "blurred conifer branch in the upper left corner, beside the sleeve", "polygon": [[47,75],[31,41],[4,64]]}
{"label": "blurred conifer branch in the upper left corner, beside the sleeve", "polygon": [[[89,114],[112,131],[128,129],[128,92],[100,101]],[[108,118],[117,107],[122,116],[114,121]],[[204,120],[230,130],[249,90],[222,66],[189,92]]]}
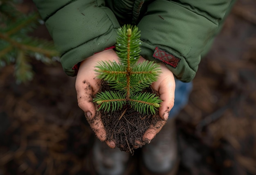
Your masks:
{"label": "blurred conifer branch in the upper left corner, beside the sleeve", "polygon": [[31,58],[45,64],[58,61],[59,53],[53,42],[29,35],[40,25],[37,12],[23,14],[14,0],[0,0],[0,68],[14,65],[17,83],[33,79]]}

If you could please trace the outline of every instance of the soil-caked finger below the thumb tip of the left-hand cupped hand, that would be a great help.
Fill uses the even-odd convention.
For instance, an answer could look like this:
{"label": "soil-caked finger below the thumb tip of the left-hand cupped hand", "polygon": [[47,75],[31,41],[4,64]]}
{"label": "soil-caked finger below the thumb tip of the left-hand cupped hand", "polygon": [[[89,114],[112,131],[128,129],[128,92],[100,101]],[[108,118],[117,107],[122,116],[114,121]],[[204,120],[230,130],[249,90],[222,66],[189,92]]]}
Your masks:
{"label": "soil-caked finger below the thumb tip of the left-hand cupped hand", "polygon": [[100,114],[95,115],[95,117],[93,119],[90,119],[86,114],[85,114],[85,117],[86,117],[90,127],[96,134],[97,138],[99,138],[99,140],[101,140],[101,141],[105,141],[107,138],[107,134],[106,134],[106,130],[103,125],[103,122],[101,120]]}

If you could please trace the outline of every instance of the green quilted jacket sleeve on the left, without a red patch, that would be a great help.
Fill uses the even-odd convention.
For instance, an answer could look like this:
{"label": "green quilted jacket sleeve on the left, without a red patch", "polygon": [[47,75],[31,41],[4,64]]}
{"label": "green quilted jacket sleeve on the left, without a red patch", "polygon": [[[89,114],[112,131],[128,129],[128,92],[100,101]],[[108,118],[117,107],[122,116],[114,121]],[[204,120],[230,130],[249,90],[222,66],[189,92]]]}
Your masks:
{"label": "green quilted jacket sleeve on the left, without a red patch", "polygon": [[94,53],[115,45],[119,23],[105,0],[34,0],[55,45],[65,73]]}

